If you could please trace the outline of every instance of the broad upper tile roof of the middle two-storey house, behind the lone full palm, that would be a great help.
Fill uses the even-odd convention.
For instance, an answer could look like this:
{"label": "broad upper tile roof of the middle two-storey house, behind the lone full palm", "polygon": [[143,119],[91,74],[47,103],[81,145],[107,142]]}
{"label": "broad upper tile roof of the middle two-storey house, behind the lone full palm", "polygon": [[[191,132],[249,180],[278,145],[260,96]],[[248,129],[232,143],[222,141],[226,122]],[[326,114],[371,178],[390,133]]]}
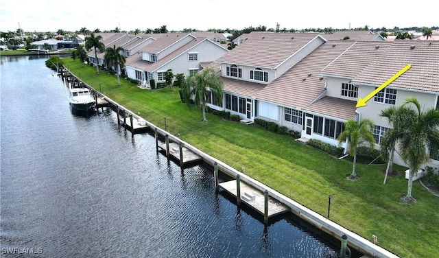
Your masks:
{"label": "broad upper tile roof of the middle two-storey house, behind the lone full palm", "polygon": [[217,62],[275,68],[318,34],[251,32],[243,34],[241,44]]}

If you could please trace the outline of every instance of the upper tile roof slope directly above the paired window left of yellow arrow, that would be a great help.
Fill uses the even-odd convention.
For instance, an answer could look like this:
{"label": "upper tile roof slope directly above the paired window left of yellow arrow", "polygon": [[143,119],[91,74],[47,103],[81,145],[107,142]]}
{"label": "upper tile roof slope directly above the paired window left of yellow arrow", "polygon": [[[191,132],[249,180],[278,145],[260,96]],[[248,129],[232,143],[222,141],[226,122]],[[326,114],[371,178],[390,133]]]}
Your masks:
{"label": "upper tile roof slope directly above the paired window left of yellow arrow", "polygon": [[[337,45],[338,41],[329,41],[327,44]],[[392,43],[386,41],[357,41],[354,42],[341,56],[325,67],[322,75],[335,75],[354,78],[374,58],[383,54]]]}

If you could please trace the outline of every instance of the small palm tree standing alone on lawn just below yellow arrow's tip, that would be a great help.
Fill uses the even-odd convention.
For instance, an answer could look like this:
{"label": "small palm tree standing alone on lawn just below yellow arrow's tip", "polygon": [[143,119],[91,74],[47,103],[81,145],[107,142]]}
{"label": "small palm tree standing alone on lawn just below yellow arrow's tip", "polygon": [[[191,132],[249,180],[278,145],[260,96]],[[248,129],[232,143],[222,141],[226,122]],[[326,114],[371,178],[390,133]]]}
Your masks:
{"label": "small palm tree standing alone on lawn just below yellow arrow's tip", "polygon": [[344,125],[344,131],[338,136],[339,145],[346,140],[348,141],[348,152],[353,157],[351,179],[357,179],[355,167],[357,166],[357,149],[359,145],[369,144],[370,148],[375,145],[375,138],[371,131],[374,126],[370,119],[361,119],[359,122],[349,119]]}

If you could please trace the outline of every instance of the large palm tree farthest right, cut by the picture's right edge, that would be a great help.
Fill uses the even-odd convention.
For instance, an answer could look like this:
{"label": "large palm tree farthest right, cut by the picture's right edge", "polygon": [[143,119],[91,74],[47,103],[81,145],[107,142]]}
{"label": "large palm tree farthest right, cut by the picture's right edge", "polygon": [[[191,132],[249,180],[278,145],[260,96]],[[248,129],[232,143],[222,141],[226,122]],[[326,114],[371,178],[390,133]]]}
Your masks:
{"label": "large palm tree farthest right, cut by the picture's right edge", "polygon": [[[410,104],[416,108],[411,108]],[[403,107],[407,108],[403,113],[397,114],[404,125],[398,128],[401,132],[399,149],[401,157],[410,169],[407,196],[403,200],[414,202],[415,199],[412,197],[414,173],[418,172],[420,167],[429,160],[427,148],[433,154],[439,150],[439,110],[429,108],[422,111],[418,99],[415,97],[405,99]]]}

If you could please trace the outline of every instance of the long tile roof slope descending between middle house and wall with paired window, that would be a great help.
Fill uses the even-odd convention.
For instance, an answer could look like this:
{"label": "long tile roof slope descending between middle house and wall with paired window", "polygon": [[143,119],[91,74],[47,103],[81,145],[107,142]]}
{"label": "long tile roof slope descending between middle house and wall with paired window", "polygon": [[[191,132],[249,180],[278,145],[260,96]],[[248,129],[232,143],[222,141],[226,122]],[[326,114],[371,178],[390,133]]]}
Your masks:
{"label": "long tile roof slope descending between middle house and wall with paired window", "polygon": [[335,44],[335,47],[333,45],[331,42],[320,45],[292,69],[259,91],[256,95],[257,99],[283,106],[307,108],[324,92],[325,81],[320,80],[320,71],[348,47],[351,47],[353,42],[340,41]]}

